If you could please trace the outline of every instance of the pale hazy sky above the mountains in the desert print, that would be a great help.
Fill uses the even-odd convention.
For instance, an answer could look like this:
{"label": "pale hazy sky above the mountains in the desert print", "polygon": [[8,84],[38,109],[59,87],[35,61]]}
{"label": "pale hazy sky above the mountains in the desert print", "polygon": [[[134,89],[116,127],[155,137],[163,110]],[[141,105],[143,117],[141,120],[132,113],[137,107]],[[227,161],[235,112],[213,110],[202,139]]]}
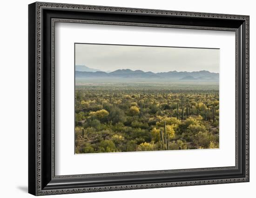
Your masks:
{"label": "pale hazy sky above the mountains in the desert print", "polygon": [[219,73],[219,49],[75,44],[75,65],[101,71],[201,71]]}

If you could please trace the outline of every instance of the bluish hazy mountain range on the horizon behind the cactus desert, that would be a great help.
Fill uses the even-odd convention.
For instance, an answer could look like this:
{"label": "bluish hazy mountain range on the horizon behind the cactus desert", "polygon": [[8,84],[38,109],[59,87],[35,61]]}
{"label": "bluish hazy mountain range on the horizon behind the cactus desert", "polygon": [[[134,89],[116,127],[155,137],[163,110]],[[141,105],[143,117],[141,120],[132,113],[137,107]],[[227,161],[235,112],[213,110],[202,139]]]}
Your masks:
{"label": "bluish hazy mountain range on the horizon behind the cactus desert", "polygon": [[121,79],[166,79],[171,81],[219,81],[219,73],[211,73],[206,70],[198,72],[143,72],[141,70],[118,69],[106,73],[101,71],[87,72],[75,71],[76,78],[121,78]]}

